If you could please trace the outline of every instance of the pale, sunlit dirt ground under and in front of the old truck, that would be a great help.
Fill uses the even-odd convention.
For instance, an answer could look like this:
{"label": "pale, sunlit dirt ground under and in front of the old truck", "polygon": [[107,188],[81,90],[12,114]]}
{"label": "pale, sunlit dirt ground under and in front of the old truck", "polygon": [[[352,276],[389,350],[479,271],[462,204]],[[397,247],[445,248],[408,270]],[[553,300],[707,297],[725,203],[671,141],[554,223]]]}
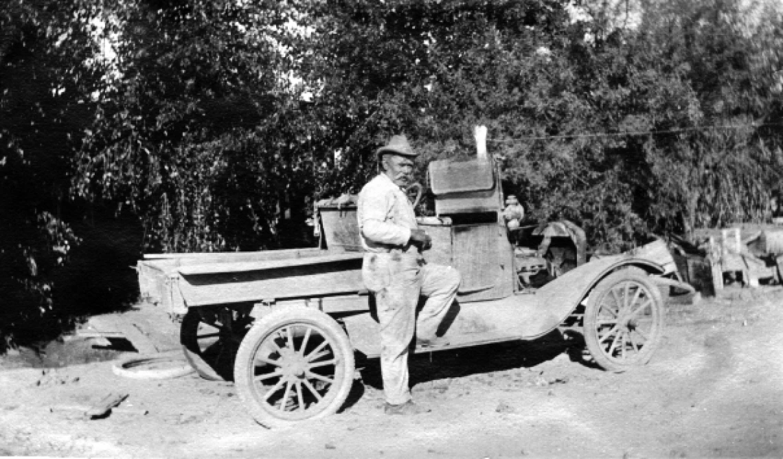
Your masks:
{"label": "pale, sunlit dirt ground under and in front of the old truck", "polygon": [[[340,414],[268,430],[233,386],[190,374],[122,378],[111,362],[0,370],[0,455],[103,457],[783,457],[783,290],[669,305],[646,367],[611,374],[538,342],[435,352],[412,362],[432,412],[382,413],[377,363]],[[7,367],[7,365],[6,365]],[[54,411],[130,393],[99,420]]]}

